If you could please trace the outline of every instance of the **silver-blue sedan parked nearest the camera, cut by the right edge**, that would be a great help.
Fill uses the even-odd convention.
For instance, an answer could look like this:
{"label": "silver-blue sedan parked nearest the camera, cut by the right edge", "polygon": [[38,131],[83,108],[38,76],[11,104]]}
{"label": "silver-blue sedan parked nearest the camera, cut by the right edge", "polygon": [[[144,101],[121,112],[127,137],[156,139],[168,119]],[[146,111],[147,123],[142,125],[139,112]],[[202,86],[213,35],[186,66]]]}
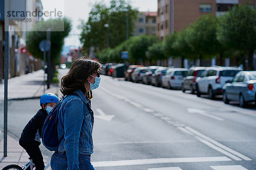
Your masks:
{"label": "silver-blue sedan parked nearest the camera, cut by the right edge", "polygon": [[223,87],[223,101],[239,101],[244,107],[247,102],[255,102],[256,105],[256,71],[240,71],[232,81]]}

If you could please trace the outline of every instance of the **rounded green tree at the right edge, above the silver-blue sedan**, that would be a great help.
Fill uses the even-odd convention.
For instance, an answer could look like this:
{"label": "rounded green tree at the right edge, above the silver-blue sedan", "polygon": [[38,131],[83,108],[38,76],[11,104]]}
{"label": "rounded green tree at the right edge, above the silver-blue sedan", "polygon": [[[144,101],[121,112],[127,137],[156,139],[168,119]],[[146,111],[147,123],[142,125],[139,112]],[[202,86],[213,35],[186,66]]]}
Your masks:
{"label": "rounded green tree at the right edge, above the silver-blue sedan", "polygon": [[227,47],[249,55],[249,70],[253,70],[256,48],[256,11],[249,4],[238,5],[222,17],[218,40]]}

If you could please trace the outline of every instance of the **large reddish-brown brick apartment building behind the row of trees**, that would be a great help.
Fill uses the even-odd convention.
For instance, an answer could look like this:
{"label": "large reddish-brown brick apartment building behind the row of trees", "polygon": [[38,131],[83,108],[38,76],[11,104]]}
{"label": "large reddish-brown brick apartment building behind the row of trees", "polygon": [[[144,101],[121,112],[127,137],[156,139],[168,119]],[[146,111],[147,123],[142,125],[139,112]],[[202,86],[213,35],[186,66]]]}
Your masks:
{"label": "large reddish-brown brick apartment building behind the row of trees", "polygon": [[[158,0],[157,37],[163,40],[166,35],[172,34],[174,31],[181,31],[204,14],[220,16],[234,5],[247,2],[256,6],[256,0]],[[199,63],[200,61],[196,61],[192,65],[199,65]],[[205,60],[201,63],[203,65],[219,64],[218,59]],[[225,65],[233,64],[235,63],[230,59],[225,59]],[[181,60],[170,58],[168,61],[164,61],[164,65],[179,67]],[[191,65],[190,62],[185,59],[184,66],[189,67],[189,65]]]}

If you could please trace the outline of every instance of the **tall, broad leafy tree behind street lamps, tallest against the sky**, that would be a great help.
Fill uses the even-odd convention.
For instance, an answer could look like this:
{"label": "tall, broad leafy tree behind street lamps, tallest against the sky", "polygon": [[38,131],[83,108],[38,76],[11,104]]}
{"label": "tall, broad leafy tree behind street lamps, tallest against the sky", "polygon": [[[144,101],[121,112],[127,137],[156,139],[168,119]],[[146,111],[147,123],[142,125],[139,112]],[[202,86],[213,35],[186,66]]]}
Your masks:
{"label": "tall, broad leafy tree behind street lamps, tallest against the sky", "polygon": [[[128,9],[128,12],[125,11]],[[107,28],[109,24],[109,43],[111,48],[115,48],[125,41],[126,15],[129,18],[129,35],[134,31],[134,20],[137,18],[137,9],[131,7],[125,0],[111,0],[111,6],[107,7],[103,3],[96,3],[89,14],[87,22],[81,21],[80,42],[88,53],[91,46],[95,46],[98,51],[106,48]]]}

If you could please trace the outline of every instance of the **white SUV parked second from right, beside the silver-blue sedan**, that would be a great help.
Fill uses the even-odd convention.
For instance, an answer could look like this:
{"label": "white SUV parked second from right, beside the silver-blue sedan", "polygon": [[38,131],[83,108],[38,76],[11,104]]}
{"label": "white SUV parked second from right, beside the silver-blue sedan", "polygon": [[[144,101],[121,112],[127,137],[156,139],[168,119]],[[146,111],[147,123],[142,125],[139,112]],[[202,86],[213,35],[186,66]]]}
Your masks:
{"label": "white SUV parked second from right, beside the silver-blue sedan", "polygon": [[228,80],[233,79],[239,71],[242,71],[239,67],[211,66],[206,68],[201,76],[195,80],[197,96],[208,94],[210,99],[214,99],[215,95],[221,95],[223,86]]}

